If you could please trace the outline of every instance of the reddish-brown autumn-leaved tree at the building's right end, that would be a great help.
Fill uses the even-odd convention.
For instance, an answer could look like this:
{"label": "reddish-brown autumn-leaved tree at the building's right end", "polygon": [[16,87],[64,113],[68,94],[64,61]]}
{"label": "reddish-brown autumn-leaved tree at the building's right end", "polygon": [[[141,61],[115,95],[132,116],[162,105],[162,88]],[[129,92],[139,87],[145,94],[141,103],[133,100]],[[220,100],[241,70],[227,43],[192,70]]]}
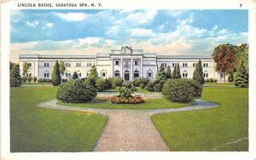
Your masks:
{"label": "reddish-brown autumn-leaved tree at the building's right end", "polygon": [[231,44],[218,45],[212,54],[216,62],[216,71],[224,73],[224,83],[226,82],[226,73],[236,67],[235,49]]}

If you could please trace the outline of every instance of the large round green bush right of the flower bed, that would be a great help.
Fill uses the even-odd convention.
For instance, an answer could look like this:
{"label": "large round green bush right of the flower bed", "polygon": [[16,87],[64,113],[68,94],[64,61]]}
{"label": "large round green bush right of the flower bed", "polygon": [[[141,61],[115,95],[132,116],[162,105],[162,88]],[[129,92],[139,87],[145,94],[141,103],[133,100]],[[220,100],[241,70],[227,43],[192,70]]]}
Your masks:
{"label": "large round green bush right of the flower bed", "polygon": [[162,94],[172,102],[190,102],[201,98],[202,86],[193,79],[170,79],[162,89]]}

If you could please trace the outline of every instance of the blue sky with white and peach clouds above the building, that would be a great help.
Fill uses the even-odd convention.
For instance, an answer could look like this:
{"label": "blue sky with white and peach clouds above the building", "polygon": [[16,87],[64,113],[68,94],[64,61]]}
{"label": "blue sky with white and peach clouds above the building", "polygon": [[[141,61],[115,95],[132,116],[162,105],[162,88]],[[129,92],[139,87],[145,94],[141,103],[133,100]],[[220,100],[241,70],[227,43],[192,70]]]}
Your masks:
{"label": "blue sky with white and peach clouds above the building", "polygon": [[96,54],[131,45],[157,54],[212,54],[247,43],[247,10],[12,10],[11,55]]}

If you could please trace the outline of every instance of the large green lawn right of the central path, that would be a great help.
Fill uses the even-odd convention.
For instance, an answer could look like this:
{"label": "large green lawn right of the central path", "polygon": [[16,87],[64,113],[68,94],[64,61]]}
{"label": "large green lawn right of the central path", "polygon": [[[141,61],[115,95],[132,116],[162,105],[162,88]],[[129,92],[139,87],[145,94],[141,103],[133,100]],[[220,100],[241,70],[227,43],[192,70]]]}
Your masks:
{"label": "large green lawn right of the central path", "polygon": [[248,89],[208,87],[217,108],[157,114],[154,126],[171,151],[248,151]]}

